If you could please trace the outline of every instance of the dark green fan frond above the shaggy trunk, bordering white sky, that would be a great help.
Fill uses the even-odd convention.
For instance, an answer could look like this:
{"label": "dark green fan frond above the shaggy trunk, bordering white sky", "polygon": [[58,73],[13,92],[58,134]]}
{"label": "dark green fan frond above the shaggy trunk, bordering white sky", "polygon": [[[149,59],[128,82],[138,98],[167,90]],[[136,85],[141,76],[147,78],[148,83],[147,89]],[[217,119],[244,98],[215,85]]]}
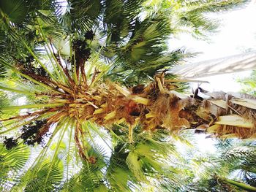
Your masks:
{"label": "dark green fan frond above the shaggy trunk, bordering white sky", "polygon": [[184,50],[167,52],[165,43],[171,33],[166,18],[153,15],[143,21],[136,20],[135,30],[127,44],[113,49],[118,51],[118,57],[108,75],[132,85],[154,77],[160,69],[176,65],[186,55]]}

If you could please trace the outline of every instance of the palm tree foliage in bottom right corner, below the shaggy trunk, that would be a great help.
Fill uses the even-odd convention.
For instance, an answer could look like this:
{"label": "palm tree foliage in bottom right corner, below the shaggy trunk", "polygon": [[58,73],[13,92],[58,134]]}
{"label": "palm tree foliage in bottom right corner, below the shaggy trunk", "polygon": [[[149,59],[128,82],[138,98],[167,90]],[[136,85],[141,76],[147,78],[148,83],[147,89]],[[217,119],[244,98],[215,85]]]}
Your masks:
{"label": "palm tree foliage in bottom right corner, below the shaggy trunk", "polygon": [[217,142],[217,149],[218,155],[190,159],[197,177],[184,191],[256,191],[255,142],[227,139]]}

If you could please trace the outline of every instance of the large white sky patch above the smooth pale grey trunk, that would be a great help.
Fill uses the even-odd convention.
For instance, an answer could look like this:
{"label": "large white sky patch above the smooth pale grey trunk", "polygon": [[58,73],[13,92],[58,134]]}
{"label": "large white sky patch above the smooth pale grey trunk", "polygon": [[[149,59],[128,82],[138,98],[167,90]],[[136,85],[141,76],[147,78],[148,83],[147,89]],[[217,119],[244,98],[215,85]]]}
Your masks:
{"label": "large white sky patch above the smooth pale grey trunk", "polygon": [[211,18],[220,22],[219,31],[208,37],[209,41],[181,34],[178,39],[170,39],[170,49],[186,47],[190,53],[200,53],[189,62],[206,61],[236,55],[256,46],[256,3],[252,1],[244,9],[211,14]]}

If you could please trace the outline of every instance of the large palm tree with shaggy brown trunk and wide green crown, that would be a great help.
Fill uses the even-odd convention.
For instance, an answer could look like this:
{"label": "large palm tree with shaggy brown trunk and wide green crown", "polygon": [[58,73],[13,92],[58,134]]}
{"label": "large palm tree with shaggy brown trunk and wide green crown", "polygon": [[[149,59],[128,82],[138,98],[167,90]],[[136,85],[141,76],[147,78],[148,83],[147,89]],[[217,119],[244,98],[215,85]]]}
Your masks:
{"label": "large palm tree with shaggy brown trunk and wide green crown", "polygon": [[167,49],[181,31],[168,10],[198,34],[203,13],[240,1],[163,2],[0,2],[2,191],[177,190],[178,132],[255,137],[254,98],[187,96],[187,80],[165,74],[189,56]]}

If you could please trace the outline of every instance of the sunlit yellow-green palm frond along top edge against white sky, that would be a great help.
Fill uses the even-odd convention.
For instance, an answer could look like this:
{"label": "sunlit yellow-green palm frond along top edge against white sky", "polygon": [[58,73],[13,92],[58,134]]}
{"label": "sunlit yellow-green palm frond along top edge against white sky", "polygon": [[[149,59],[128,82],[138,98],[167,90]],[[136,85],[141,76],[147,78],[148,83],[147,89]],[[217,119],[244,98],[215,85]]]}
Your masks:
{"label": "sunlit yellow-green palm frond along top edge against white sky", "polygon": [[241,7],[248,1],[147,1],[148,12],[161,12],[170,18],[176,32],[188,31],[196,38],[207,39],[208,32],[217,31],[218,20],[208,18],[209,12],[221,12]]}

